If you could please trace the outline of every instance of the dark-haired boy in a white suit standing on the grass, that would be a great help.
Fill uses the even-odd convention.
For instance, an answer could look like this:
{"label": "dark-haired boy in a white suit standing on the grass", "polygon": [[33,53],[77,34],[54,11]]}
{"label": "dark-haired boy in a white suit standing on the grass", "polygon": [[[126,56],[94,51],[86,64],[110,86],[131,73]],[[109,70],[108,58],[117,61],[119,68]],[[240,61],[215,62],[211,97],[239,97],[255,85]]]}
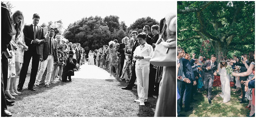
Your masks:
{"label": "dark-haired boy in a white suit standing on the grass", "polygon": [[144,102],[148,99],[148,85],[149,85],[149,60],[153,55],[153,47],[146,43],[146,34],[140,33],[137,36],[140,46],[136,47],[134,51],[134,59],[137,60],[135,64],[135,73],[137,76],[138,96],[140,106],[145,106]]}

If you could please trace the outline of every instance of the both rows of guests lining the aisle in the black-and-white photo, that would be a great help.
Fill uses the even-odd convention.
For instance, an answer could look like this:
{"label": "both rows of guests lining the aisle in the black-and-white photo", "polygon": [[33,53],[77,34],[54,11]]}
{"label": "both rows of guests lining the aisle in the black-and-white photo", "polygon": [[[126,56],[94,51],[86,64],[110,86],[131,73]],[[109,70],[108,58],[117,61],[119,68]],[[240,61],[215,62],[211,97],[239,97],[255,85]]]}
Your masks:
{"label": "both rows of guests lining the aisle in the black-and-white photo", "polygon": [[[53,28],[45,35],[44,29],[38,26],[40,16],[37,13],[33,14],[32,24],[24,27],[21,11],[15,11],[10,16],[9,10],[1,6],[1,13],[1,116],[11,116],[7,105],[15,101],[6,97],[15,99],[14,95],[23,91],[31,58],[28,90],[36,91],[40,84],[50,87],[49,84],[54,82],[58,73],[59,82],[66,82],[67,79],[71,81],[74,71],[79,71],[80,66],[85,63],[86,54],[79,43],[68,42],[61,34],[55,36]],[[171,79],[174,78],[175,67],[156,67],[149,62],[155,45],[174,48],[173,44],[176,44],[176,15],[168,14],[161,21],[160,27],[151,27],[153,38],[148,35],[150,27],[146,25],[143,33],[133,31],[132,37],[124,37],[120,44],[114,40],[95,52],[90,51],[88,63],[109,69],[110,76],[113,75],[114,67],[117,78],[129,83],[122,89],[132,89],[137,78],[139,99],[134,101],[145,106],[148,96],[159,94],[155,116],[175,117],[175,80]],[[166,26],[168,28],[164,28]],[[164,34],[161,37],[159,30]],[[19,71],[20,78],[16,89]]]}

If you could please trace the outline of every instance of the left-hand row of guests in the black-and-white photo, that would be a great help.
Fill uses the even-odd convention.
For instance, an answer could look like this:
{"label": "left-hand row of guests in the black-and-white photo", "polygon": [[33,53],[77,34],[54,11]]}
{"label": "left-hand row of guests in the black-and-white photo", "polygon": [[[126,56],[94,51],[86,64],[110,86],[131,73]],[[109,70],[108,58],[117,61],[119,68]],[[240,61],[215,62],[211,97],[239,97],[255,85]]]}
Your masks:
{"label": "left-hand row of guests in the black-and-white photo", "polygon": [[[49,87],[59,74],[59,81],[71,81],[74,71],[85,63],[85,51],[79,43],[72,44],[56,34],[53,28],[44,34],[38,26],[40,16],[35,13],[32,24],[23,25],[23,13],[9,10],[1,4],[1,116],[11,116],[7,105],[21,94],[32,58],[28,90],[36,91],[39,84]],[[55,36],[55,39],[54,39]],[[40,63],[39,63],[40,62]],[[22,64],[22,66],[21,66]],[[39,68],[38,68],[39,66]],[[38,71],[39,70],[39,71]],[[16,88],[18,72],[20,78]],[[6,99],[6,97],[8,99]]]}

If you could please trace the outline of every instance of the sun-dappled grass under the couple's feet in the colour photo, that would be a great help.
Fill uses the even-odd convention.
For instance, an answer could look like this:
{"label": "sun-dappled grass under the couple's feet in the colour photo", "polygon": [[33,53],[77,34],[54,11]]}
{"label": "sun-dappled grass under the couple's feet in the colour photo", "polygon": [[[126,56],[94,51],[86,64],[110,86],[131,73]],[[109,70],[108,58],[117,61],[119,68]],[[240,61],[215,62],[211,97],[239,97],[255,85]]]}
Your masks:
{"label": "sun-dappled grass under the couple's feet in the colour photo", "polygon": [[[223,103],[223,99],[219,96],[221,93],[221,87],[213,87],[212,104],[209,104],[206,98],[207,92],[198,93],[194,96],[196,102],[191,102],[190,107],[193,107],[192,111],[184,112],[187,117],[246,117],[246,113],[250,110],[245,108],[248,103],[240,104],[238,101],[239,92],[233,92],[235,89],[231,87],[231,100],[227,103]],[[184,106],[183,106],[184,108]]]}

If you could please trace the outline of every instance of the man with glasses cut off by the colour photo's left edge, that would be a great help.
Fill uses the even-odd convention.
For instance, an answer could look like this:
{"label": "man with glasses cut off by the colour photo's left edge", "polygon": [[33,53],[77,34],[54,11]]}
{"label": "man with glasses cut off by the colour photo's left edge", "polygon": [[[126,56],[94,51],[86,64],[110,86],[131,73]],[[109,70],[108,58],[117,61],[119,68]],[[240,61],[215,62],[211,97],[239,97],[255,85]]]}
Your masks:
{"label": "man with glasses cut off by the colour photo's left edge", "polygon": [[[190,80],[188,78],[185,78],[185,75],[183,74],[183,65],[182,65],[182,60],[180,58],[182,58],[184,56],[185,52],[184,49],[182,47],[177,47],[177,64],[180,63],[180,67],[178,69],[178,77],[177,77],[177,87],[179,92],[181,92],[181,82],[187,82],[190,83]],[[181,108],[180,108],[180,100],[177,100],[177,113],[178,113],[178,117],[185,117],[184,114],[180,114]]]}

